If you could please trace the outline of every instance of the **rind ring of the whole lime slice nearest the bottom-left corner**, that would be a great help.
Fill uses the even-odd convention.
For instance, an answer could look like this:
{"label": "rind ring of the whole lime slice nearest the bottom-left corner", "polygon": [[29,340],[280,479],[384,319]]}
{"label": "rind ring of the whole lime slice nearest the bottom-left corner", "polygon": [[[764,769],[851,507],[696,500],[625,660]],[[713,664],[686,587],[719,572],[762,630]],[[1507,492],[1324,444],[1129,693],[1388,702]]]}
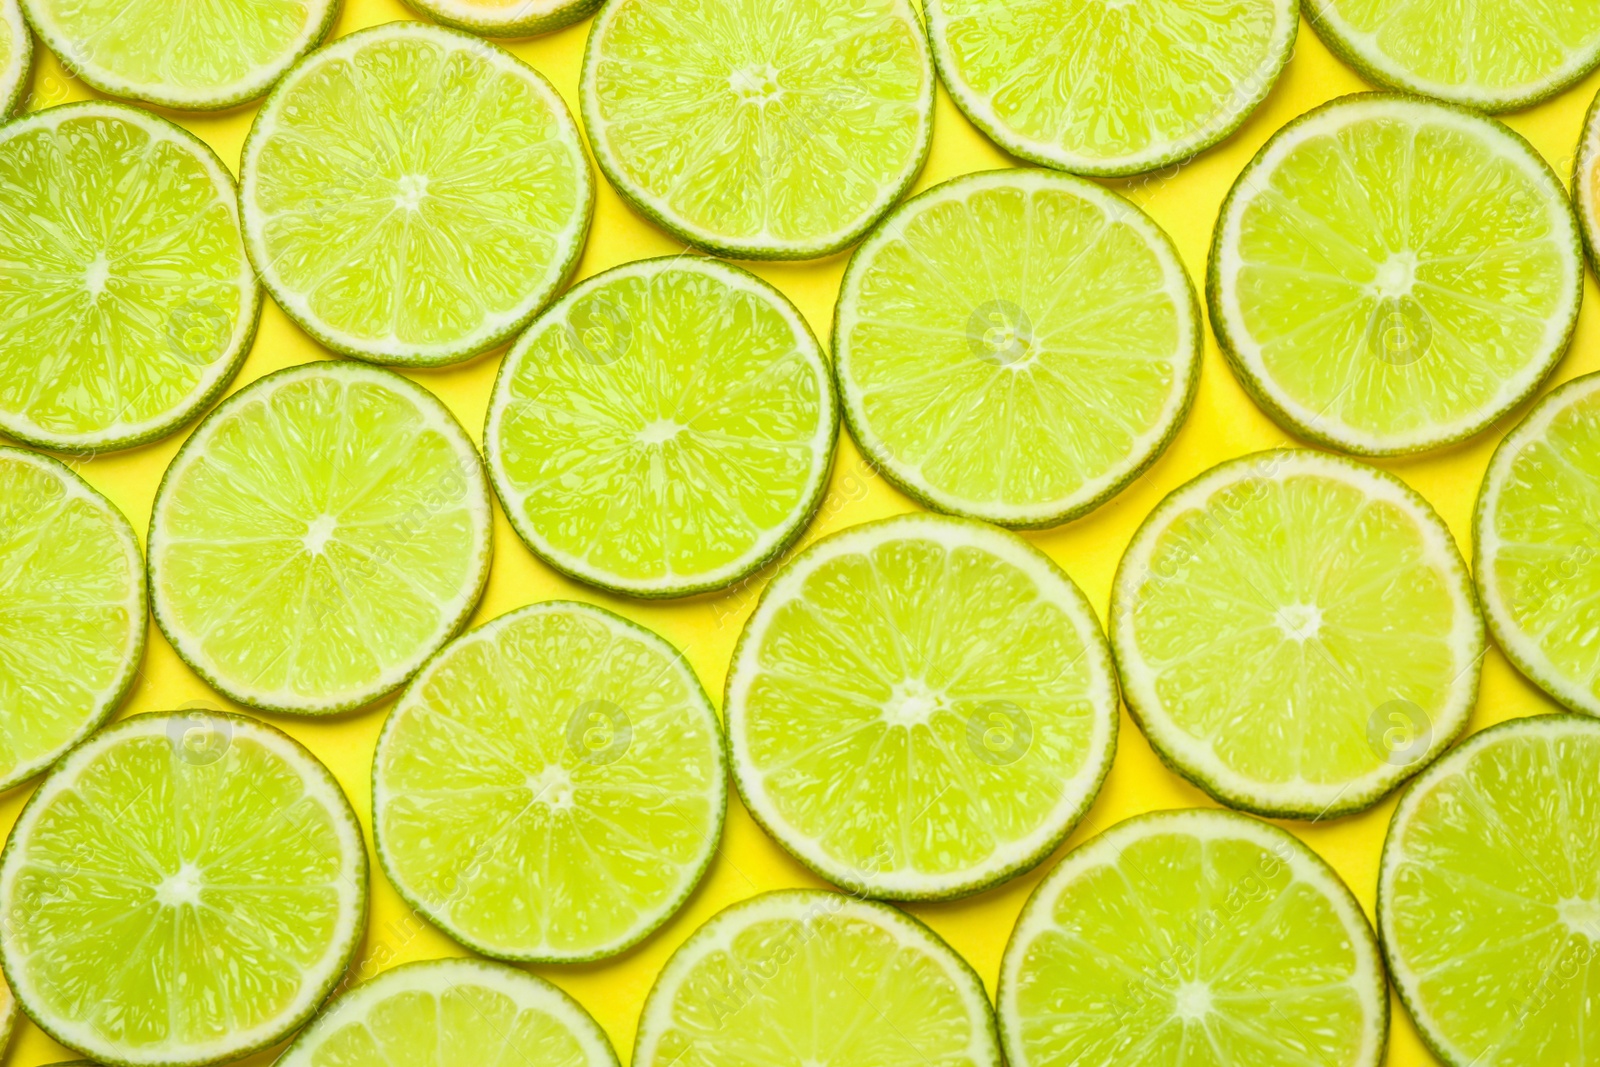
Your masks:
{"label": "rind ring of the whole lime slice nearest the bottom-left corner", "polygon": [[[174,736],[173,723],[184,721],[186,715],[186,712],[147,712],[131,715],[107,726],[56,765],[51,774],[38,785],[34,795],[22,806],[22,811],[16,819],[16,825],[6,838],[5,849],[0,851],[0,901],[5,901],[6,913],[16,913],[13,910],[16,904],[13,899],[13,881],[16,875],[14,867],[21,862],[21,849],[26,846],[29,833],[37,824],[45,806],[62,790],[70,789],[74,776],[82,771],[91,758],[101,755],[125,737],[138,739],[162,736],[171,741]],[[355,953],[362,945],[368,913],[366,849],[362,843],[362,825],[355,817],[355,809],[350,806],[349,798],[339,787],[338,779],[309,749],[275,726],[246,715],[234,715],[227,712],[206,712],[206,718],[211,721],[227,723],[230,731],[229,737],[253,734],[253,741],[274,750],[283,761],[293,763],[294,769],[302,776],[301,781],[315,790],[320,808],[328,814],[331,825],[342,837],[341,845],[344,848],[344,856],[341,859],[341,865],[347,865],[350,870],[347,875],[341,875],[341,878],[344,878],[342,885],[355,889],[352,894],[355,897],[354,910],[346,910],[341,915],[341,925],[346,926],[346,929],[334,931],[328,963],[322,968],[323,973],[315,977],[310,990],[299,997],[302,1005],[294,1008],[290,1017],[274,1019],[269,1024],[258,1024],[253,1029],[230,1032],[224,1040],[216,1043],[216,1048],[200,1051],[198,1054],[194,1054],[194,1049],[190,1049],[190,1054],[155,1051],[154,1054],[141,1056],[131,1049],[117,1048],[114,1045],[90,1048],[91,1043],[80,1040],[80,1033],[70,1032],[69,1027],[59,1019],[48,1017],[40,1006],[32,1001],[34,992],[30,985],[27,982],[18,982],[18,976],[22,974],[22,961],[14,957],[16,936],[13,934],[0,939],[0,966],[3,966],[5,979],[11,984],[11,990],[22,1013],[34,1022],[34,1025],[48,1033],[58,1043],[86,1056],[94,1056],[96,1064],[106,1064],[107,1067],[203,1067],[206,1064],[242,1059],[251,1053],[272,1048],[317,1014],[322,1003],[344,977],[346,969],[355,960]],[[301,793],[302,801],[314,795],[312,789]],[[139,797],[134,798],[134,801],[138,800]],[[130,801],[130,808],[134,801]],[[126,814],[128,808],[123,811]]]}

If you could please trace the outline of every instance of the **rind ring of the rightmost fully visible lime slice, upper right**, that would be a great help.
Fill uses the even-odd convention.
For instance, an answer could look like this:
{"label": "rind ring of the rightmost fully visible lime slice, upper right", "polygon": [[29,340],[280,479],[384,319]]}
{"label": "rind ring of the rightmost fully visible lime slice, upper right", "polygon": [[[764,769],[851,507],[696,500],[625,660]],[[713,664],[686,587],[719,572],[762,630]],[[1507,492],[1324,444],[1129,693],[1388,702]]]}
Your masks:
{"label": "rind ring of the rightmost fully visible lime slice, upper right", "polygon": [[[1267,384],[1266,374],[1245,355],[1245,346],[1240,336],[1235,333],[1238,323],[1234,322],[1234,312],[1227,298],[1224,296],[1222,282],[1222,258],[1226,246],[1230,246],[1227,240],[1230,232],[1237,229],[1238,202],[1242,192],[1258,192],[1259,182],[1256,181],[1258,171],[1266,165],[1266,160],[1275,152],[1275,149],[1285,142],[1288,138],[1304,133],[1304,126],[1318,122],[1330,112],[1338,112],[1349,107],[1376,106],[1376,107],[1413,107],[1413,109],[1430,109],[1435,114],[1443,114],[1456,118],[1467,118],[1472,123],[1478,123],[1482,130],[1490,131],[1498,136],[1504,146],[1515,149],[1518,158],[1528,163],[1534,174],[1541,179],[1549,181],[1550,200],[1549,205],[1560,205],[1562,214],[1571,224],[1571,254],[1573,261],[1578,264],[1573,270],[1570,293],[1571,293],[1571,310],[1566,315],[1563,330],[1558,336],[1550,338],[1546,346],[1546,352],[1530,360],[1526,368],[1520,373],[1522,386],[1515,394],[1499,400],[1498,403],[1482,408],[1474,413],[1470,419],[1458,421],[1458,426],[1443,427],[1430,430],[1427,434],[1410,434],[1406,437],[1370,437],[1362,435],[1355,429],[1346,429],[1333,426],[1330,421],[1322,419],[1325,413],[1301,413],[1293,411],[1288,406],[1286,398],[1278,397]],[[1274,422],[1282,426],[1290,434],[1294,434],[1304,440],[1325,445],[1328,448],[1336,448],[1339,451],[1352,453],[1357,456],[1408,456],[1422,451],[1432,451],[1464,442],[1490,426],[1499,421],[1506,413],[1512,411],[1522,405],[1528,397],[1538,392],[1539,384],[1550,374],[1562,357],[1571,346],[1573,336],[1578,330],[1578,312],[1582,306],[1582,246],[1579,237],[1581,227],[1578,226],[1576,216],[1571,211],[1571,203],[1566,197],[1566,190],[1562,186],[1560,178],[1550,170],[1550,165],[1544,162],[1544,157],[1523,138],[1520,133],[1506,126],[1504,123],[1480,115],[1478,112],[1462,107],[1458,104],[1450,104],[1443,101],[1426,99],[1416,94],[1405,93],[1352,93],[1349,96],[1341,96],[1326,104],[1314,107],[1312,110],[1299,115],[1282,130],[1278,130],[1272,138],[1261,147],[1256,157],[1245,165],[1238,178],[1234,181],[1234,187],[1229,190],[1227,198],[1222,202],[1222,210],[1218,213],[1216,229],[1211,238],[1211,254],[1210,264],[1206,267],[1206,306],[1211,314],[1211,328],[1216,334],[1218,346],[1222,350],[1222,357],[1227,360],[1229,368],[1234,371],[1234,378],[1238,381],[1240,387],[1250,395],[1256,405],[1272,418]]]}

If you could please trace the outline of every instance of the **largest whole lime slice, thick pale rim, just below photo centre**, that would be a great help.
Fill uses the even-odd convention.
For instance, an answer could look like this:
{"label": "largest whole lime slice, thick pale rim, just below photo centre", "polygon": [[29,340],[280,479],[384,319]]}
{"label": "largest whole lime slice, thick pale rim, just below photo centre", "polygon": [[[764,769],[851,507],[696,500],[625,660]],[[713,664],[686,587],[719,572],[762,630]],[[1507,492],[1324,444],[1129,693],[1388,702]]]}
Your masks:
{"label": "largest whole lime slice, thick pale rim, just below photo centre", "polygon": [[1021,537],[936,515],[787,563],[723,707],[750,814],[829,881],[904,901],[1038,864],[1117,745],[1110,651],[1078,587]]}

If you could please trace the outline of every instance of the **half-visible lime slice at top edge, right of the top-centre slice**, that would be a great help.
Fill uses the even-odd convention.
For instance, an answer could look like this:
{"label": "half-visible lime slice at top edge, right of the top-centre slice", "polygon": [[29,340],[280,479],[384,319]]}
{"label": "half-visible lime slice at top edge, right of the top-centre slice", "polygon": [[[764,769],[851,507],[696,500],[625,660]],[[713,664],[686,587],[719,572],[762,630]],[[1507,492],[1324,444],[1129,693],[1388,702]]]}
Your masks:
{"label": "half-visible lime slice at top edge, right of the top-centre slice", "polygon": [[1138,174],[1238,130],[1294,51],[1296,0],[925,0],[939,77],[1011,155]]}

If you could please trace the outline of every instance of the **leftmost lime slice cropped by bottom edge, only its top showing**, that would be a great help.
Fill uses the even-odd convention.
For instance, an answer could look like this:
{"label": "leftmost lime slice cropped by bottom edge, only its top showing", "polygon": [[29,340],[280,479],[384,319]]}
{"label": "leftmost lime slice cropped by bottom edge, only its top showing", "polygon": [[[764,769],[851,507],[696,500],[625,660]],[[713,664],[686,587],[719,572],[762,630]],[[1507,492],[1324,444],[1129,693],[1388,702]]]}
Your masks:
{"label": "leftmost lime slice cropped by bottom edge, only its top showing", "polygon": [[275,1067],[616,1067],[582,1005],[517,968],[426,960],[336,1000]]}

